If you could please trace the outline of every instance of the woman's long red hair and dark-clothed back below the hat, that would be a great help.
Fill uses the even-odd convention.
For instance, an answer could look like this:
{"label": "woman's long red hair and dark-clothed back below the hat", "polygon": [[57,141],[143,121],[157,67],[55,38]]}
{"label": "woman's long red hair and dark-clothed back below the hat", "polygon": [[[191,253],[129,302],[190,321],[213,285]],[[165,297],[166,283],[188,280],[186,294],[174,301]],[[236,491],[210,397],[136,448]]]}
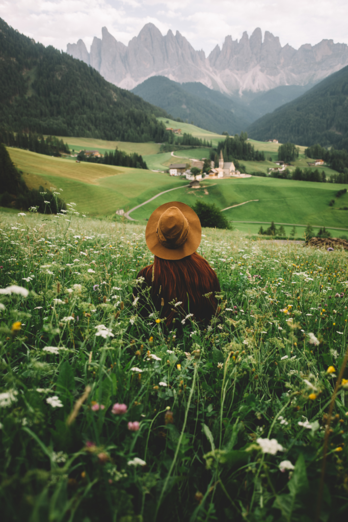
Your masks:
{"label": "woman's long red hair and dark-clothed back below the hat", "polygon": [[[143,268],[140,275],[151,286],[156,309],[164,300],[161,316],[166,317],[167,326],[178,313],[193,313],[195,321],[206,322],[217,310],[214,292],[220,291],[219,280],[207,260],[196,252],[177,260],[155,256],[153,265]],[[209,297],[204,296],[210,292]],[[170,305],[174,299],[182,304],[177,307]]]}

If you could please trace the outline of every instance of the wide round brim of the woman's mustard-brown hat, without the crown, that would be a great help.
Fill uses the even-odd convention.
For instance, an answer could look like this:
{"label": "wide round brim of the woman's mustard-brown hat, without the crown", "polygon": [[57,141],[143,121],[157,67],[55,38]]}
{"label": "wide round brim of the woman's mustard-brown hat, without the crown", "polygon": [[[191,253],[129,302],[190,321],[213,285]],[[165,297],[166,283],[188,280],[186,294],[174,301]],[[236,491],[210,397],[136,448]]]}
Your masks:
{"label": "wide round brim of the woman's mustard-brown hat, without the crown", "polygon": [[[165,248],[165,246],[161,245],[158,240],[158,235],[156,233],[157,225],[160,217],[163,212],[170,207],[177,207],[181,210],[189,223],[189,231],[187,235],[187,239],[182,246],[179,248]],[[149,247],[149,250],[157,257],[161,257],[162,259],[182,259],[183,257],[190,256],[194,252],[196,252],[197,248],[200,245],[202,236],[202,228],[200,226],[199,217],[196,212],[191,209],[185,203],[181,203],[181,201],[171,201],[170,203],[164,203],[157,209],[155,209],[148,221],[145,238],[146,244]]]}

